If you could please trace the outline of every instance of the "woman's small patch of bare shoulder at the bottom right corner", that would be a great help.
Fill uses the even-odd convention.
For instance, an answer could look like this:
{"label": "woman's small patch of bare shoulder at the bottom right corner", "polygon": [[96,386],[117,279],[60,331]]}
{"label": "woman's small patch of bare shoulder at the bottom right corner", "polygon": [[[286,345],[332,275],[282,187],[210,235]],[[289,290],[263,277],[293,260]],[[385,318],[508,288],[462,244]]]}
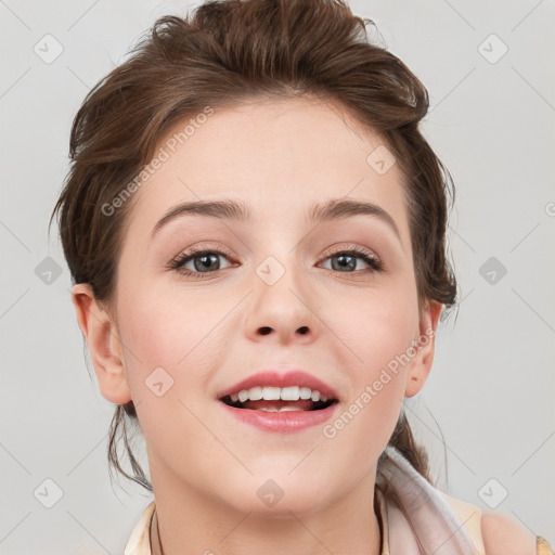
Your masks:
{"label": "woman's small patch of bare shoulder at the bottom right corner", "polygon": [[535,535],[517,520],[485,511],[480,521],[486,555],[535,555]]}

